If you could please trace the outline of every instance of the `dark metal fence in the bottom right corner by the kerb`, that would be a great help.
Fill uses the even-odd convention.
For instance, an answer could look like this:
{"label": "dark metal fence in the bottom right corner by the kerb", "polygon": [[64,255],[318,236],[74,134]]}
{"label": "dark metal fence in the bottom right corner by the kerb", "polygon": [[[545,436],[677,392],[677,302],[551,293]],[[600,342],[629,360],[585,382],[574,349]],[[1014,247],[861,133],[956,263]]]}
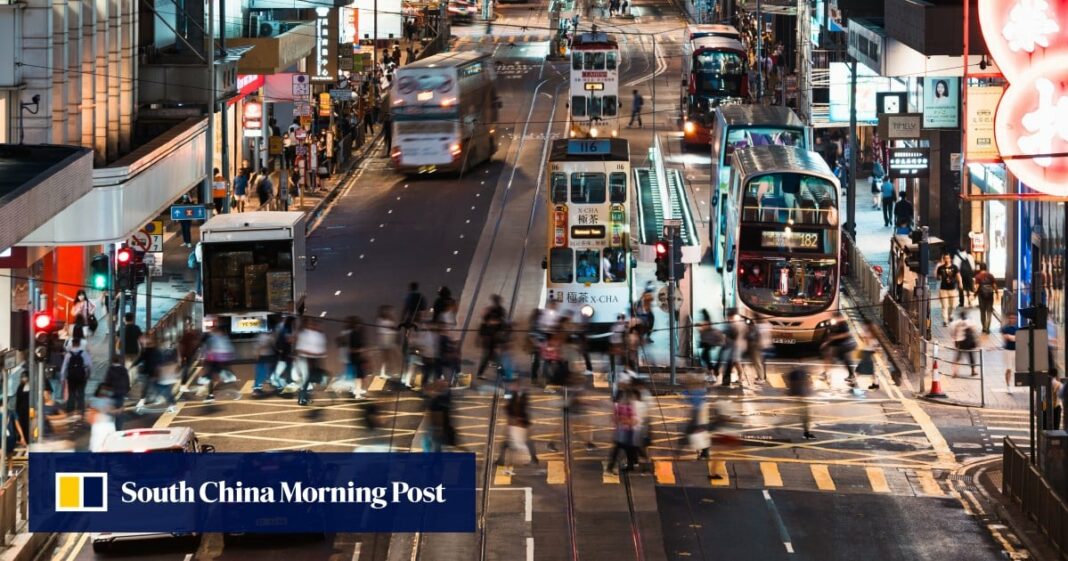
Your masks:
{"label": "dark metal fence in the bottom right corner by the kerb", "polygon": [[1011,438],[1002,448],[1002,495],[1020,505],[1063,559],[1068,559],[1068,504]]}

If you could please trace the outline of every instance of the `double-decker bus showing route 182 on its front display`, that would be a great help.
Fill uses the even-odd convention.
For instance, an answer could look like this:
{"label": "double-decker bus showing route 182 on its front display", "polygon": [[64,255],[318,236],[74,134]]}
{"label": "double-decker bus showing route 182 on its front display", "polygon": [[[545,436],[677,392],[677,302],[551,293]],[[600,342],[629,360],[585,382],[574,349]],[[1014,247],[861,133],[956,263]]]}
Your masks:
{"label": "double-decker bus showing route 182 on its front display", "polygon": [[838,188],[815,152],[732,156],[723,302],[767,318],[776,344],[820,341],[838,307]]}

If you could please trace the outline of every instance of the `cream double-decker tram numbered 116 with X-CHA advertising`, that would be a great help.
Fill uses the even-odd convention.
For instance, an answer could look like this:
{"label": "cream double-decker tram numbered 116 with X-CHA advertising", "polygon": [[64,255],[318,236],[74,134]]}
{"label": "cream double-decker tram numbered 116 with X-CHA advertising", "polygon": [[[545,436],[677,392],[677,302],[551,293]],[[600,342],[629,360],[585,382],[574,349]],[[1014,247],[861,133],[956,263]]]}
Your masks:
{"label": "cream double-decker tram numbered 116 with X-CHA advertising", "polygon": [[546,301],[606,327],[630,307],[630,146],[554,140],[548,182]]}

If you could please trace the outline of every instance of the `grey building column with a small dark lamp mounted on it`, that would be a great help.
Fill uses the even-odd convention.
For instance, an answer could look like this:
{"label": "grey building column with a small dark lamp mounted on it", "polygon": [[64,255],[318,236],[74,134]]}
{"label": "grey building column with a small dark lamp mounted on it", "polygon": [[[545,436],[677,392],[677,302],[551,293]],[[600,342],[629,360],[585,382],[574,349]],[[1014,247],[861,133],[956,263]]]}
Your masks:
{"label": "grey building column with a small dark lamp mounted on it", "polygon": [[[29,0],[22,16],[22,80],[26,89],[12,100],[14,142],[18,142],[18,119],[22,116],[26,143],[46,144],[52,139],[52,3]],[[22,111],[20,104],[41,96],[37,114]]]}

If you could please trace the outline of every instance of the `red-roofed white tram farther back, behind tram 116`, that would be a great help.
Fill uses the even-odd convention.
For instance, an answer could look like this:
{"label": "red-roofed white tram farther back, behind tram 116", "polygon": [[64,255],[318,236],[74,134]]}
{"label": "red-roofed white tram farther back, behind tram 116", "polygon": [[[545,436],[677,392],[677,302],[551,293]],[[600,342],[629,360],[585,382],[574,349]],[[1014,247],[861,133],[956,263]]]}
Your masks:
{"label": "red-roofed white tram farther back, behind tram 116", "polygon": [[579,33],[571,42],[571,138],[619,134],[619,45],[608,33]]}

